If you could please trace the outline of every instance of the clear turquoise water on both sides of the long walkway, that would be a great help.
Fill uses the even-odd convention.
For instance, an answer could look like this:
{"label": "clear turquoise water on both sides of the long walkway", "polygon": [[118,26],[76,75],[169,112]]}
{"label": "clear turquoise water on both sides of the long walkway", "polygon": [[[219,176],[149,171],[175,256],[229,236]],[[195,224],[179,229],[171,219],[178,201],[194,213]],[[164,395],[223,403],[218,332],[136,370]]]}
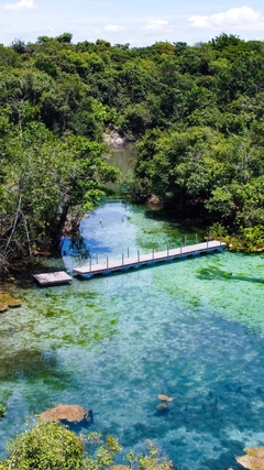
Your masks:
{"label": "clear turquoise water on both sides of the long walkway", "polygon": [[[185,229],[156,212],[107,203],[81,223],[92,260],[182,243]],[[188,228],[187,242],[196,239]],[[69,273],[88,263],[65,255]],[[264,258],[228,250],[98,276],[14,288],[2,314],[0,452],[56,403],[92,408],[89,430],[113,434],[123,452],[147,439],[178,469],[237,469],[234,456],[264,442]],[[160,393],[174,397],[158,414]]]}

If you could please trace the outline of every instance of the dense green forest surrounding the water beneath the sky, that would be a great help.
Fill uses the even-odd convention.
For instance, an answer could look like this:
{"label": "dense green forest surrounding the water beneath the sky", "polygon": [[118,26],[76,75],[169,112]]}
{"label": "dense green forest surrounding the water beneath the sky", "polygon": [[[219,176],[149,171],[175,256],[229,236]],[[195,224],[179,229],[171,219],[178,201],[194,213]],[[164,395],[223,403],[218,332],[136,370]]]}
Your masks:
{"label": "dense green forest surrounding the water beneath the sky", "polygon": [[136,142],[129,196],[264,249],[264,42],[0,45],[0,272],[58,247],[118,177],[103,134]]}

